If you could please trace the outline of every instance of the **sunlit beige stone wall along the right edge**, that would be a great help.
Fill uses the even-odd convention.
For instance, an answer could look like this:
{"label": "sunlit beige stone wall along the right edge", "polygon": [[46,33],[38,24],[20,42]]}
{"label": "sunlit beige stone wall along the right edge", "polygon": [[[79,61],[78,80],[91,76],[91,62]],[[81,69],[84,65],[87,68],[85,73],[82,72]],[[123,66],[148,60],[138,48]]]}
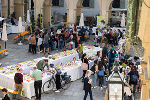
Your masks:
{"label": "sunlit beige stone wall along the right edge", "polygon": [[[150,0],[144,0],[150,6]],[[144,61],[148,61],[150,56],[150,9],[143,3],[141,9],[140,27],[138,36],[144,46]]]}

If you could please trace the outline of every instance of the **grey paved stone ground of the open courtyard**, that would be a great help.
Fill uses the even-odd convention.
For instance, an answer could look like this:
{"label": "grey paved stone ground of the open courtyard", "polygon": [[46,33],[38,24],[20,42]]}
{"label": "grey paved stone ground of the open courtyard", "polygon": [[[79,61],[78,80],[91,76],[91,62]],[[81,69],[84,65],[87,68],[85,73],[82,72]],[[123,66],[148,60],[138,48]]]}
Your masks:
{"label": "grey paved stone ground of the open courtyard", "polygon": [[[44,56],[43,53],[40,54],[31,54],[28,53],[28,45],[24,44],[23,46],[18,46],[15,44],[15,41],[13,40],[13,37],[15,37],[16,34],[11,34],[8,36],[8,42],[7,42],[7,48],[9,49],[8,56],[2,56],[0,55],[0,63],[3,64],[3,66],[8,66],[16,63],[20,63],[23,61],[32,60],[35,58],[39,58]],[[93,45],[94,43],[91,42],[92,39],[89,39],[86,44]],[[3,41],[0,41],[0,43],[3,45],[2,48],[4,48]],[[59,51],[53,51],[53,53],[57,53]],[[1,93],[0,93],[1,94]],[[84,91],[83,91],[83,84],[81,80],[77,80],[75,82],[72,82],[71,87],[66,90],[62,91],[61,93],[50,93],[50,94],[42,94],[42,100],[83,100]],[[93,96],[94,100],[105,100],[105,90],[100,90],[100,88],[93,89]],[[27,98],[23,98],[23,100],[29,100]],[[34,100],[34,97],[32,98]],[[89,97],[88,99],[89,100]],[[140,94],[136,94],[136,99],[140,100]]]}

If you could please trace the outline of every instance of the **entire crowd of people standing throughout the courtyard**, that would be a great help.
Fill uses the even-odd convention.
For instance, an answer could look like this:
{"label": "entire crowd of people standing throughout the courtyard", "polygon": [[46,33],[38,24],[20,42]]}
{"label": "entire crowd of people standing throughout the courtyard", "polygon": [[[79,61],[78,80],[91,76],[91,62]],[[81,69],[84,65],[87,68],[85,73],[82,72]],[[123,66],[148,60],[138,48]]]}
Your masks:
{"label": "entire crowd of people standing throughout the courtyard", "polygon": [[[95,43],[102,47],[102,52],[98,51],[94,65],[89,67],[89,58],[87,54],[83,54],[83,42],[85,42],[85,35],[90,33],[89,30],[82,27],[77,32],[76,29],[67,29],[65,27],[54,30],[51,28],[48,30],[36,30],[28,38],[29,40],[29,52],[36,54],[44,52],[44,55],[48,51],[52,50],[64,50],[77,48],[79,57],[81,58],[83,76],[82,82],[84,84],[86,100],[88,93],[90,94],[90,100],[93,100],[92,88],[100,87],[101,89],[107,87],[106,78],[111,75],[114,66],[118,66],[119,72],[125,77],[126,82],[133,87],[132,92],[135,93],[141,89],[141,80],[139,73],[141,73],[139,57],[132,57],[129,51],[125,51],[124,45],[119,45],[119,40],[124,39],[125,32],[121,32],[119,29],[112,30],[109,27],[97,29],[95,35]],[[23,74],[22,69],[18,69],[18,72],[14,76],[15,88],[18,91],[17,98],[21,98],[21,91],[23,87]],[[42,87],[42,71],[52,71],[56,77],[56,92],[60,92],[60,74],[58,70],[54,68],[54,65],[48,65],[48,60],[41,60],[33,68],[32,78],[35,80],[35,94],[36,100],[41,100],[41,87]],[[3,90],[7,94],[7,90]],[[6,95],[7,96],[7,95]],[[5,99],[4,99],[5,100]]]}

